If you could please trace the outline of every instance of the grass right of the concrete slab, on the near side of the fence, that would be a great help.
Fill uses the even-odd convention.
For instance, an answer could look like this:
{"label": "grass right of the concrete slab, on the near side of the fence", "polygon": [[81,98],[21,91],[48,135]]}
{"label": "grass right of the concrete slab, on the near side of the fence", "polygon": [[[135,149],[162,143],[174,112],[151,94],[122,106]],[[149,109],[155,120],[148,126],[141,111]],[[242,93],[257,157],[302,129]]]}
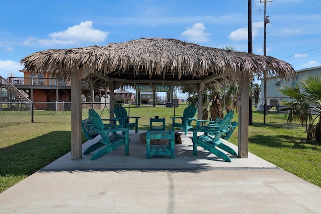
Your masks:
{"label": "grass right of the concrete slab, on the near side of the fence", "polygon": [[[321,143],[305,139],[306,133],[281,126],[249,126],[249,152],[321,187]],[[237,135],[229,141],[237,145]]]}

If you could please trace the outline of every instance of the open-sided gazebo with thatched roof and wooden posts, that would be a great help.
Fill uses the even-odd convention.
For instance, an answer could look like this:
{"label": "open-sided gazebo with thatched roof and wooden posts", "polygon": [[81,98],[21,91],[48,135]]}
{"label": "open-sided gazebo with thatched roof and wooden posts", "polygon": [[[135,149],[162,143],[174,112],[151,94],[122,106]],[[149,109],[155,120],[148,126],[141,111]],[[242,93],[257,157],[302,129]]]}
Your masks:
{"label": "open-sided gazebo with thatched roof and wooden posts", "polygon": [[[250,78],[278,76],[288,80],[295,71],[288,63],[270,56],[204,47],[176,39],[141,38],[106,46],[90,46],[33,53],[21,60],[25,69],[49,72],[71,79],[71,158],[82,156],[81,81],[91,76],[92,84],[109,88],[120,86],[159,87],[190,85],[198,92],[198,112],[202,93],[209,85],[226,79],[239,81],[238,156],[248,157],[248,117]],[[113,118],[114,94],[110,93]],[[198,114],[198,119],[201,119]]]}

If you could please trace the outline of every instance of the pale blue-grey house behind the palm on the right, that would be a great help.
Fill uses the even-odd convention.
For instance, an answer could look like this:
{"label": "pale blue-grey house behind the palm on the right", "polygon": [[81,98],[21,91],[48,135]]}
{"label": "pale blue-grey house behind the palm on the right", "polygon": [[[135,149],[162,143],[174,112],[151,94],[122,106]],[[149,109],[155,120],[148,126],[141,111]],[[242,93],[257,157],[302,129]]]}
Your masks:
{"label": "pale blue-grey house behind the palm on the right", "polygon": [[[279,88],[281,86],[287,85],[293,85],[295,84],[299,79],[307,76],[317,76],[321,75],[321,66],[318,67],[312,67],[312,68],[305,68],[296,71],[296,79],[290,79],[289,82],[286,82],[285,80],[281,80],[278,77],[270,77],[266,80],[266,97],[267,97],[267,106],[278,106],[280,105],[281,101],[289,101],[290,97],[285,97],[279,92]],[[261,98],[259,103],[257,104],[257,110],[263,111],[264,106],[264,81],[261,80]]]}

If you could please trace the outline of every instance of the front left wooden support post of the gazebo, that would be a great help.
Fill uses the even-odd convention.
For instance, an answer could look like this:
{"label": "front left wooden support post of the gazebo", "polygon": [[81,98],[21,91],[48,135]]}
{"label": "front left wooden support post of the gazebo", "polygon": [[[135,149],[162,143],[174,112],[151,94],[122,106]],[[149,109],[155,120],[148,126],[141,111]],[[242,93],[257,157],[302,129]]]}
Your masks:
{"label": "front left wooden support post of the gazebo", "polygon": [[71,72],[71,159],[81,159],[81,68]]}

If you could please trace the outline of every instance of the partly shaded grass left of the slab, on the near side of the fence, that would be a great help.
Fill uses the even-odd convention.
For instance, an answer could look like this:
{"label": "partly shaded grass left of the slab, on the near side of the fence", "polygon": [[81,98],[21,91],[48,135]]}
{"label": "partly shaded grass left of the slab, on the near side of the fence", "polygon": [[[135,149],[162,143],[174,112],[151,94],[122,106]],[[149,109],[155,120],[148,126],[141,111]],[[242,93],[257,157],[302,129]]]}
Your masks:
{"label": "partly shaded grass left of the slab, on the near side of the fence", "polygon": [[28,123],[2,128],[0,192],[68,153],[70,130],[70,123]]}

